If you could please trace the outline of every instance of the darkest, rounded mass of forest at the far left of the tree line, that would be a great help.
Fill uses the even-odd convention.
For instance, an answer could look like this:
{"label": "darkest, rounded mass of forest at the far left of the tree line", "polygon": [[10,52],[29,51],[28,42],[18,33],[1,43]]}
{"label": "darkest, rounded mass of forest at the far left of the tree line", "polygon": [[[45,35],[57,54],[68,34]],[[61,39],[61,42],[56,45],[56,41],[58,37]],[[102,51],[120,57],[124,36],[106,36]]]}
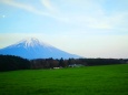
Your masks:
{"label": "darkest, rounded mass of forest at the far left of the tree line", "polygon": [[0,71],[30,68],[30,61],[14,55],[0,55]]}

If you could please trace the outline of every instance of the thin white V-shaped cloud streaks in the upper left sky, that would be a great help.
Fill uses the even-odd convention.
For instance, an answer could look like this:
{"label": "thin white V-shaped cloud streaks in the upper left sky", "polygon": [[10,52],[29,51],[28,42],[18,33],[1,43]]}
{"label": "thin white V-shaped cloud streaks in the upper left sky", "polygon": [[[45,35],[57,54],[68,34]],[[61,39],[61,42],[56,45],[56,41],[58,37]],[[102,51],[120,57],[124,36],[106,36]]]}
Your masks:
{"label": "thin white V-shaped cloud streaks in the upper left sky", "polygon": [[[50,1],[48,0],[40,0],[42,2],[42,4],[50,10],[45,12],[42,10],[38,10],[36,7],[31,6],[31,4],[27,4],[27,3],[21,3],[21,2],[17,2],[14,0],[0,0],[0,2],[4,3],[4,4],[8,4],[8,6],[12,6],[12,7],[16,7],[16,8],[20,8],[20,9],[23,9],[23,10],[27,10],[29,12],[32,12],[32,13],[36,13],[36,14],[39,14],[39,15],[45,15],[45,17],[49,17],[49,18],[52,18],[52,19],[56,19],[58,21],[61,21],[62,19],[57,14],[57,9],[55,6],[51,4]],[[53,13],[55,12],[55,13]]]}

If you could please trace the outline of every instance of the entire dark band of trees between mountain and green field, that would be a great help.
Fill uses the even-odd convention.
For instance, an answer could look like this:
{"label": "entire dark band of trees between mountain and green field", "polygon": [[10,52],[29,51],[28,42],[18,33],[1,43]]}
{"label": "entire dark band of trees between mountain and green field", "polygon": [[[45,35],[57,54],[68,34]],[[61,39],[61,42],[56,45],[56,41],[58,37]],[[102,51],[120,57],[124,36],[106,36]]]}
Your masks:
{"label": "entire dark band of trees between mountain and green field", "polygon": [[0,72],[30,68],[55,68],[69,67],[71,65],[95,66],[124,64],[128,60],[124,59],[36,59],[27,60],[14,55],[0,55]]}

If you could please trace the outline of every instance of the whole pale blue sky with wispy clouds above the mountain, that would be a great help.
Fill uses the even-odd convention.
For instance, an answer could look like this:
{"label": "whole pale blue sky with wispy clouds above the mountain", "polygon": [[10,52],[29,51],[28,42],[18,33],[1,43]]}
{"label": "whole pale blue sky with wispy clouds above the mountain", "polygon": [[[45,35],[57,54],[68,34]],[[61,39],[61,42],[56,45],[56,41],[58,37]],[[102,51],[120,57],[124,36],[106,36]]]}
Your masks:
{"label": "whole pale blue sky with wispy clouds above the mountain", "polygon": [[86,57],[128,59],[128,0],[0,0],[0,49],[28,36]]}

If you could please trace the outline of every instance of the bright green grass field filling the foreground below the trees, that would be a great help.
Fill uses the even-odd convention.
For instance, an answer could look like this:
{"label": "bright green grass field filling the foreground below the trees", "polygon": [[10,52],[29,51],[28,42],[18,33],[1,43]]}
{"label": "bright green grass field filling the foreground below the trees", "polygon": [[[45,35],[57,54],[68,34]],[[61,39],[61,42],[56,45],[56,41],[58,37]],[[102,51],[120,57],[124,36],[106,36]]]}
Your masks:
{"label": "bright green grass field filling the foreground below the trees", "polygon": [[0,95],[128,95],[128,64],[1,72]]}

